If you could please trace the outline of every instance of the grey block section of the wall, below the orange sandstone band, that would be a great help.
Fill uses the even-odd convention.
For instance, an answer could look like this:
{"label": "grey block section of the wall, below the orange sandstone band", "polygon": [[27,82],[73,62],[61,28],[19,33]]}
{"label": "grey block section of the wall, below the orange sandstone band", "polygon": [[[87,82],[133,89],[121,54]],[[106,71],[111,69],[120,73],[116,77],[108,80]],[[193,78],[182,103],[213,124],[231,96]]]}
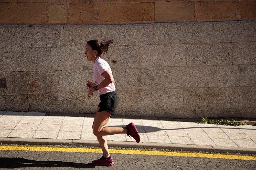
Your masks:
{"label": "grey block section of the wall, below the orange sandstone band", "polygon": [[95,112],[86,41],[116,38],[106,56],[117,113],[255,117],[256,21],[128,25],[0,25],[0,110]]}

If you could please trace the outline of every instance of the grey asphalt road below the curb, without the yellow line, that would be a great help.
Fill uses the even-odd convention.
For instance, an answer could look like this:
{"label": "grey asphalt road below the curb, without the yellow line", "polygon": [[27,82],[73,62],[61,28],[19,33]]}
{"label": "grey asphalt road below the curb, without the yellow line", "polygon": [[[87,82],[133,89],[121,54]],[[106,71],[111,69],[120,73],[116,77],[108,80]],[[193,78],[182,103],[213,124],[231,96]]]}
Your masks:
{"label": "grey asphalt road below the curb, without the yellow line", "polygon": [[[3,146],[3,145],[1,145]],[[0,146],[0,147],[1,147]],[[7,146],[7,145],[4,145]],[[8,145],[10,146],[10,145]],[[23,145],[15,145],[23,146]],[[31,145],[30,145],[31,146]],[[38,147],[38,146],[36,146]],[[45,147],[45,146],[40,146]],[[49,147],[49,146],[47,146]],[[62,147],[63,146],[51,146]],[[65,148],[65,147],[64,147]],[[70,146],[66,146],[70,148]],[[76,147],[78,148],[78,147]],[[88,148],[88,147],[79,147]],[[94,148],[95,149],[95,148]],[[96,148],[97,149],[97,148]],[[122,148],[110,148],[122,149]],[[126,148],[127,149],[127,148]],[[131,148],[129,148],[131,149]],[[139,149],[136,149],[139,150]],[[155,151],[146,149],[147,151]],[[140,150],[139,150],[140,151]],[[162,150],[157,150],[162,151]],[[165,152],[177,152],[166,151]],[[135,152],[136,153],[136,152]],[[154,153],[154,152],[152,152]],[[188,153],[181,152],[178,153]],[[190,152],[191,153],[191,152]],[[199,153],[199,152],[192,152]],[[205,154],[205,152],[200,152]],[[218,153],[220,154],[220,153]],[[256,156],[245,154],[226,154],[237,156]],[[88,152],[60,152],[60,151],[17,151],[0,150],[0,169],[256,169],[256,161],[237,160],[237,159],[219,159],[219,158],[198,158],[184,156],[164,156],[164,155],[141,155],[141,154],[120,154],[111,153],[114,159],[114,165],[111,167],[94,166],[91,161],[99,159],[101,153]]]}

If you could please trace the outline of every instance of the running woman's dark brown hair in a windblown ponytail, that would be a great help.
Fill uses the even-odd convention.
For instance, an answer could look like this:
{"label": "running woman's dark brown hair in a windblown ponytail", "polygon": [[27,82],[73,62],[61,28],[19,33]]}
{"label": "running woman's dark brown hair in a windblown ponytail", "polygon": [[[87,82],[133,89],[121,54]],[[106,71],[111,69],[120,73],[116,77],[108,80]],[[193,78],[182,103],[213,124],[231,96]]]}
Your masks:
{"label": "running woman's dark brown hair in a windblown ponytail", "polygon": [[114,39],[113,40],[104,40],[99,42],[99,40],[90,40],[87,41],[87,44],[89,44],[92,47],[92,50],[97,50],[98,51],[98,55],[101,56],[101,54],[103,54],[102,57],[105,56],[106,53],[108,53],[109,51],[109,45],[110,44],[114,44]]}

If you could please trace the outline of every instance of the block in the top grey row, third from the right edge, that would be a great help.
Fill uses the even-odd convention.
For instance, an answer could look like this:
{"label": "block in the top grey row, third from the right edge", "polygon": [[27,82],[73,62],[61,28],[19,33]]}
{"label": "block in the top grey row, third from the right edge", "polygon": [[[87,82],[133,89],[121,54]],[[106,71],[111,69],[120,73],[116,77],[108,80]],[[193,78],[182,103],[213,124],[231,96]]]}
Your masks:
{"label": "block in the top grey row, third from the right edge", "polygon": [[201,23],[154,23],[155,44],[199,43]]}

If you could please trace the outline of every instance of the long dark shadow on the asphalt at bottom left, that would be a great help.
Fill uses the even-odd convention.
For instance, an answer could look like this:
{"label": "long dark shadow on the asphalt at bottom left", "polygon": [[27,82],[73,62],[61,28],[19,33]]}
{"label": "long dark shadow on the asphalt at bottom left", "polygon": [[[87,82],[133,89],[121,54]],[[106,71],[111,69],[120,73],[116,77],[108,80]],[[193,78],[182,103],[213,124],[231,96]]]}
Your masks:
{"label": "long dark shadow on the asphalt at bottom left", "polygon": [[76,163],[62,161],[35,161],[24,158],[0,158],[0,168],[25,168],[25,167],[71,167],[71,168],[94,168],[92,163]]}

